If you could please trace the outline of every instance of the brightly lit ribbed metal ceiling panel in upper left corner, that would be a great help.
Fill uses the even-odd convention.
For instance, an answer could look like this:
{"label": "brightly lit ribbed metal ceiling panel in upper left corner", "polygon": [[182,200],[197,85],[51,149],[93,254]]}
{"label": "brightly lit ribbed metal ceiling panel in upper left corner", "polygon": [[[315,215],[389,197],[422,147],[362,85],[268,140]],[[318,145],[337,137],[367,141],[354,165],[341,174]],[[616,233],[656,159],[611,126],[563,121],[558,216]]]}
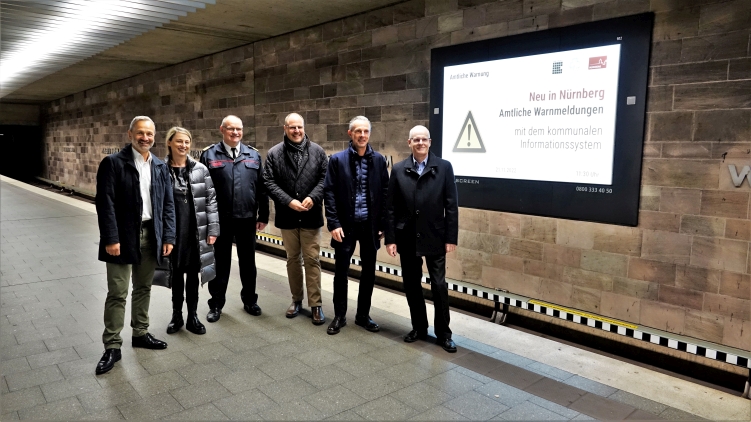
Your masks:
{"label": "brightly lit ribbed metal ceiling panel in upper left corner", "polygon": [[0,98],[215,0],[2,0]]}

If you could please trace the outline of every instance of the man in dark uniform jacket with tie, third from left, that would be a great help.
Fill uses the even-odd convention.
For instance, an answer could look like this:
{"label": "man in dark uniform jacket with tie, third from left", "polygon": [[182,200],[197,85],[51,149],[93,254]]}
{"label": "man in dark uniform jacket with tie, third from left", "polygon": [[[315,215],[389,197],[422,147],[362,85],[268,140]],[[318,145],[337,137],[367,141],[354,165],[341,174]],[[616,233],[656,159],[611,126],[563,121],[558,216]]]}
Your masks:
{"label": "man in dark uniform jacket with tie, third from left", "polygon": [[201,154],[201,163],[209,168],[214,182],[219,226],[222,228],[214,244],[216,278],[209,283],[208,322],[219,320],[227,301],[233,240],[240,265],[243,309],[251,315],[261,315],[256,294],[256,230],[263,230],[269,222],[269,198],[263,186],[261,155],[255,148],[241,143],[242,120],[227,116],[219,131],[222,142],[206,148]]}

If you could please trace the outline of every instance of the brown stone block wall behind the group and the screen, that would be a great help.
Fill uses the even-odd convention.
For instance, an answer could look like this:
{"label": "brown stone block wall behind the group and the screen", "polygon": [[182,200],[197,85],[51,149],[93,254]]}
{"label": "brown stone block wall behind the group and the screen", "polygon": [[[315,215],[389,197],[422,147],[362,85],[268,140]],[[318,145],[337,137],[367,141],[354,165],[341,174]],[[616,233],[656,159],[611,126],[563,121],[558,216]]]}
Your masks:
{"label": "brown stone block wall behind the group and the screen", "polygon": [[639,226],[463,208],[448,275],[748,350],[751,185],[734,187],[727,166],[751,165],[750,0],[409,1],[55,101],[47,177],[93,189],[102,149],[125,142],[135,114],[162,132],[185,125],[199,148],[238,114],[264,154],[289,112],[328,153],[364,114],[373,146],[398,161],[409,128],[428,122],[431,48],[646,11]]}

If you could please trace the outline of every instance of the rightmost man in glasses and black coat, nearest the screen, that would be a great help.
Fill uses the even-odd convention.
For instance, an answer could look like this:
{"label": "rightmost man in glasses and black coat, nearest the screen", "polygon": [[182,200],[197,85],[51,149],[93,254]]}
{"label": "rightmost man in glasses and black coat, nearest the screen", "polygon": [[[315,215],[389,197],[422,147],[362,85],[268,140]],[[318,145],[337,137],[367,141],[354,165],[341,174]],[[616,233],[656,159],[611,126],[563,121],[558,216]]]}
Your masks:
{"label": "rightmost man in glasses and black coat, nearest the screen", "polygon": [[436,343],[449,353],[456,352],[449,328],[446,254],[456,249],[459,237],[458,194],[454,169],[446,160],[430,153],[430,132],[425,126],[409,131],[412,150],[406,160],[391,170],[387,200],[386,250],[402,263],[404,292],[412,317],[412,331],[404,341],[426,339],[428,317],[422,295],[422,257],[430,275],[435,305]]}

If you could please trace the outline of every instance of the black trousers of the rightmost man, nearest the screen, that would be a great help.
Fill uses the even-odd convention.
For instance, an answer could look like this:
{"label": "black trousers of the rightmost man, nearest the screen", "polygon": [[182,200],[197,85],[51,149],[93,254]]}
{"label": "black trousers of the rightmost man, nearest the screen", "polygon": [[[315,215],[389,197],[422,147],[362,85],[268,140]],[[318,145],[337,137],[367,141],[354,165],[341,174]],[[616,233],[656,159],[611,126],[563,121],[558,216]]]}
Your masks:
{"label": "black trousers of the rightmost man, nearest the screen", "polygon": [[[397,247],[399,250],[399,247]],[[412,318],[412,329],[418,333],[428,330],[428,315],[425,308],[425,297],[422,294],[422,258],[416,256],[414,250],[399,251],[399,259],[402,263],[402,280],[404,293],[407,295],[409,313]],[[433,327],[436,337],[440,339],[451,338],[449,328],[449,292],[446,286],[446,254],[429,255],[425,257],[430,276],[430,290],[433,293],[433,305],[435,306],[435,318]]]}

